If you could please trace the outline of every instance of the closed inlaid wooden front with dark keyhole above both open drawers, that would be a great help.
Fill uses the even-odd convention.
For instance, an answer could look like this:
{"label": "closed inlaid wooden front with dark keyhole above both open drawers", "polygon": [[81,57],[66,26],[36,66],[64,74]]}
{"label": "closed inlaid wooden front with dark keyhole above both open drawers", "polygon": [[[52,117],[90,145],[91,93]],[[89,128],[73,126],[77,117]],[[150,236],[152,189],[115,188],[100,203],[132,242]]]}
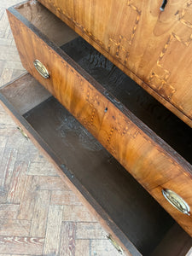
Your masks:
{"label": "closed inlaid wooden front with dark keyhole above both open drawers", "polygon": [[189,1],[39,2],[192,127]]}

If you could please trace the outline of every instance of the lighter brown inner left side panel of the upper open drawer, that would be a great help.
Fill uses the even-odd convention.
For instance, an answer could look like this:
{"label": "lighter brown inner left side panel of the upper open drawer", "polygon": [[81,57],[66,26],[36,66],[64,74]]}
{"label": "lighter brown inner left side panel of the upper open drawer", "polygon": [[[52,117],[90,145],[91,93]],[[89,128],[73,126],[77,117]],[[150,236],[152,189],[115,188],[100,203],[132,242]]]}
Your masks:
{"label": "lighter brown inner left side panel of the upper open drawer", "polygon": [[66,44],[78,37],[76,32],[41,4],[26,2],[15,6],[15,9],[55,44]]}

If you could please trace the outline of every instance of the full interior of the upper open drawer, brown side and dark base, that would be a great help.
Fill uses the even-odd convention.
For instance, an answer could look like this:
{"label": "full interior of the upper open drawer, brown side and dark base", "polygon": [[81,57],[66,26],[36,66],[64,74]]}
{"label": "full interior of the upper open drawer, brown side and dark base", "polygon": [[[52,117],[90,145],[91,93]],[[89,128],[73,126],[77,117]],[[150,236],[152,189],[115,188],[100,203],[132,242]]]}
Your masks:
{"label": "full interior of the upper open drawer, brown side and dark base", "polygon": [[113,98],[131,110],[137,118],[192,164],[192,129],[188,125],[40,3],[29,1],[16,6],[15,9],[57,44],[79,67],[102,84]]}

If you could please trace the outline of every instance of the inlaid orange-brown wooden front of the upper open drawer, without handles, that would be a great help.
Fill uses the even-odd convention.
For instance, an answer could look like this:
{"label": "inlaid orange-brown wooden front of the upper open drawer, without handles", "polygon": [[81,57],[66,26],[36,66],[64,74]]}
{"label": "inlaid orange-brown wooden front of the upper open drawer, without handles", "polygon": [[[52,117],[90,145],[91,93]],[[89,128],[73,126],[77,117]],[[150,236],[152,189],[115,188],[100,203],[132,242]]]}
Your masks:
{"label": "inlaid orange-brown wooden front of the upper open drawer, without handles", "polygon": [[[192,236],[191,215],[178,212],[167,204],[159,189],[160,186],[172,189],[167,183],[172,184],[174,192],[183,197],[191,209],[191,166],[132,113],[124,108],[119,110],[115,106],[118,103],[113,104],[108,100],[100,84],[91,80],[88,74],[75,66],[61,49],[50,43],[29,22],[21,19],[18,13],[15,17],[11,9],[8,15],[23,66],[73,113]],[[37,59],[44,63],[49,79],[44,79],[34,67],[33,61]],[[179,176],[183,178],[183,190],[179,187]],[[185,188],[188,194],[184,193]]]}

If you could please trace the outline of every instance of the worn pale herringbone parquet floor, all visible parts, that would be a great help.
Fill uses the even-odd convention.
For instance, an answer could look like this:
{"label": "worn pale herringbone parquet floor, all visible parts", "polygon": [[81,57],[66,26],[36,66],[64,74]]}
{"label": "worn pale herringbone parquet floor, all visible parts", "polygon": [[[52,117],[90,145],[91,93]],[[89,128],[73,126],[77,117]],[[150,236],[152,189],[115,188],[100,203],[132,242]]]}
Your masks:
{"label": "worn pale herringbone parquet floor, all visible parts", "polygon": [[[0,86],[24,73],[0,1]],[[0,107],[0,256],[116,256],[96,219]]]}

